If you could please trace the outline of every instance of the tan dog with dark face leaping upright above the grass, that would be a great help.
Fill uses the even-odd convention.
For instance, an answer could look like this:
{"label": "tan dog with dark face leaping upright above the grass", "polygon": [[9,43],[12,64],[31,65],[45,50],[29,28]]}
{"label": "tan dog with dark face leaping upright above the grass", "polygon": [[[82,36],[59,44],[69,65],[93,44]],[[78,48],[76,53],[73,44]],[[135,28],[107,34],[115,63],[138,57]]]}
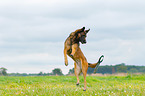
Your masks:
{"label": "tan dog with dark face leaping upright above the grass", "polygon": [[97,71],[98,66],[103,61],[103,55],[99,58],[97,63],[91,64],[87,62],[83,52],[81,51],[79,45],[86,44],[86,36],[90,29],[85,30],[85,27],[72,32],[64,43],[64,58],[65,65],[68,65],[67,55],[74,60],[74,71],[77,77],[77,85],[79,85],[79,75],[82,72],[84,77],[84,91],[86,91],[86,74],[88,67],[95,68]]}

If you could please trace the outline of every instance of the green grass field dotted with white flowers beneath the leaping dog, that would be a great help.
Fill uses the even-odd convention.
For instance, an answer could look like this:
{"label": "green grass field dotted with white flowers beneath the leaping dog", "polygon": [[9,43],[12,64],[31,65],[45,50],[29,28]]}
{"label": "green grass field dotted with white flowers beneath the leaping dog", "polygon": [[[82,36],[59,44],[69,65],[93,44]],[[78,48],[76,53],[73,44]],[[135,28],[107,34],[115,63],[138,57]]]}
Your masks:
{"label": "green grass field dotted with white flowers beneath the leaping dog", "polygon": [[145,96],[145,75],[87,76],[76,86],[75,76],[0,77],[0,96]]}

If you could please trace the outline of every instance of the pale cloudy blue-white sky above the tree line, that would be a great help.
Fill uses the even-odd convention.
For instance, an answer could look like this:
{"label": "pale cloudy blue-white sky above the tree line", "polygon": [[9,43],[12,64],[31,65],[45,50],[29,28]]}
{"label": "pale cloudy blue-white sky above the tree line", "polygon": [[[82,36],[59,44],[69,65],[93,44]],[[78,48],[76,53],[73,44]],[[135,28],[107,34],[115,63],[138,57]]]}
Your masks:
{"label": "pale cloudy blue-white sky above the tree line", "polygon": [[0,0],[0,67],[8,73],[64,74],[64,41],[90,28],[80,47],[90,63],[145,65],[144,0]]}

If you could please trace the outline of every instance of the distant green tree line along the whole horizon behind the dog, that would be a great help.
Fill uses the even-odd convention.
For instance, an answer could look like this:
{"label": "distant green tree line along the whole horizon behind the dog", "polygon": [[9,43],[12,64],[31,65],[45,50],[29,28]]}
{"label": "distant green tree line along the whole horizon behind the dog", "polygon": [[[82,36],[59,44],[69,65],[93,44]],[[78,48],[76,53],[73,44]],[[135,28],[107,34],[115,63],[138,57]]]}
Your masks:
{"label": "distant green tree line along the whole horizon behind the dog", "polygon": [[[94,68],[88,68],[87,73],[92,74]],[[105,65],[99,66],[96,73],[102,74],[114,74],[114,73],[145,73],[145,66],[134,66],[134,65],[125,65],[125,63],[117,65]],[[68,74],[74,74],[74,68],[70,69]],[[51,73],[7,73],[7,69],[2,67],[0,68],[0,76],[51,76],[51,75],[64,75],[60,68],[55,68]]]}

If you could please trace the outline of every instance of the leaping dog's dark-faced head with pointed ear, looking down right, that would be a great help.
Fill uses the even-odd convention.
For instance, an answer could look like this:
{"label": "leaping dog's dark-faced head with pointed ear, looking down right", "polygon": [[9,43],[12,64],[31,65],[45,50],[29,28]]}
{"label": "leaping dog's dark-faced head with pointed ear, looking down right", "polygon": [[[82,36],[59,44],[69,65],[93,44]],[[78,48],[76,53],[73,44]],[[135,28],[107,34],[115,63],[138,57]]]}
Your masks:
{"label": "leaping dog's dark-faced head with pointed ear, looking down right", "polygon": [[79,39],[79,41],[80,41],[82,44],[86,44],[86,43],[87,43],[86,37],[87,37],[87,33],[88,33],[89,31],[90,31],[90,29],[84,30],[84,31],[78,33],[78,39]]}

